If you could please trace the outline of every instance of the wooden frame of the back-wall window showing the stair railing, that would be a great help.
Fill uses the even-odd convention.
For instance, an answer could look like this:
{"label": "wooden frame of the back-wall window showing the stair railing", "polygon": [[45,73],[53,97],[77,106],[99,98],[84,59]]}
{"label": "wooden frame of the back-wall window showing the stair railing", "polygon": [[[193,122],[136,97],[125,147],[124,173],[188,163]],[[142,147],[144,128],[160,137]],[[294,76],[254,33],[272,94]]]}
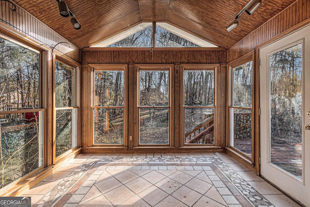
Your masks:
{"label": "wooden frame of the back-wall window showing the stair railing", "polygon": [[[197,147],[214,147],[219,145],[219,138],[217,138],[218,135],[218,119],[217,119],[217,69],[220,68],[219,64],[181,64],[181,100],[180,100],[180,109],[182,110],[182,125],[181,125],[181,131],[182,135],[180,138],[180,147],[181,148],[197,148]],[[184,105],[184,72],[187,70],[208,70],[214,72],[214,91],[213,91],[213,106],[185,106]],[[213,144],[188,144],[185,142],[185,109],[186,108],[205,108],[205,109],[213,109],[214,110],[214,143]]]}

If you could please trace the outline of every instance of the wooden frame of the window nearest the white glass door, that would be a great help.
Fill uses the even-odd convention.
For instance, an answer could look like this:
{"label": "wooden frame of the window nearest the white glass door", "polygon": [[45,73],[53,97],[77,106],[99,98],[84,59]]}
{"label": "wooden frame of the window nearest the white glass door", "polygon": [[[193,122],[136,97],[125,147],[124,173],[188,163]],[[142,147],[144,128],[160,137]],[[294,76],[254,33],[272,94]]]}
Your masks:
{"label": "wooden frame of the window nearest the white glass door", "polygon": [[[252,107],[237,107],[233,106],[233,68],[238,67],[242,64],[246,64],[248,62],[252,62]],[[227,126],[228,126],[228,140],[227,146],[232,149],[235,153],[239,154],[241,157],[248,160],[250,164],[254,164],[255,161],[255,55],[254,51],[249,52],[248,54],[238,58],[237,60],[228,64],[229,66],[229,73],[228,73],[228,80],[229,80],[229,99],[228,99],[228,118],[227,118]],[[244,152],[238,150],[237,148],[230,145],[231,143],[231,109],[246,109],[251,110],[251,157],[249,157]]]}

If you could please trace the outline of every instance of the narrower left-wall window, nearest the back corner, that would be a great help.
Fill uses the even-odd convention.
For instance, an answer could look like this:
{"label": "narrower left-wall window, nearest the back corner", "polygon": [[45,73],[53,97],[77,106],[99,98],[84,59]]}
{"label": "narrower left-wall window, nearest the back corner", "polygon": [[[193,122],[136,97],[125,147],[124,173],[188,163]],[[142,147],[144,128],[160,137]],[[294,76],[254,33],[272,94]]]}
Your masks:
{"label": "narrower left-wall window, nearest the back corner", "polygon": [[76,68],[55,62],[55,157],[77,146]]}

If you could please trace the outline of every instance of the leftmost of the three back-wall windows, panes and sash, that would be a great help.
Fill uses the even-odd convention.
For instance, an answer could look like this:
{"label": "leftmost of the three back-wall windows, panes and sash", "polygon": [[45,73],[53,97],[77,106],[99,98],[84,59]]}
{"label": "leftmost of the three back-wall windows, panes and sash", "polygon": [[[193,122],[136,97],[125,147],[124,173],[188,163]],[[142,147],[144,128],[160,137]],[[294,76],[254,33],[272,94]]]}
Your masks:
{"label": "leftmost of the three back-wall windows, panes and sash", "polygon": [[125,69],[93,67],[93,144],[124,144]]}

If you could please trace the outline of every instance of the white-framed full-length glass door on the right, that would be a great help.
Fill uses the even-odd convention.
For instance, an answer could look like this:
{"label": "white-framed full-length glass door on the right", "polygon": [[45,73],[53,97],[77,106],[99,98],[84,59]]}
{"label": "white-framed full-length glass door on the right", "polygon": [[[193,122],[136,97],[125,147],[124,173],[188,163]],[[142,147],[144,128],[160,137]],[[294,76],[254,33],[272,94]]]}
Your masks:
{"label": "white-framed full-length glass door on the right", "polygon": [[310,206],[310,26],[260,49],[261,175]]}

